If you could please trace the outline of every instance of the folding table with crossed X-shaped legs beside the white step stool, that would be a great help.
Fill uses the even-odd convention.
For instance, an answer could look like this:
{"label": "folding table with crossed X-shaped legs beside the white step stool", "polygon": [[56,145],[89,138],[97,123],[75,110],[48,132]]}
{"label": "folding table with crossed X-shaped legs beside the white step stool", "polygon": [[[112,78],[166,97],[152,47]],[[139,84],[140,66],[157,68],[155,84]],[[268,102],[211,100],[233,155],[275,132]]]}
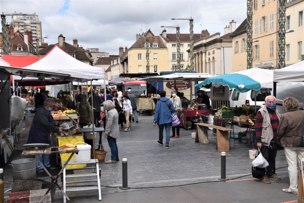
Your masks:
{"label": "folding table with crossed X-shaped legs beside the white step stool", "polygon": [[[52,151],[52,149],[55,148],[57,149],[56,151]],[[65,169],[66,165],[68,164],[69,160],[71,159],[71,157],[73,156],[74,153],[79,152],[79,150],[77,149],[77,147],[75,147],[74,150],[71,151],[67,151],[65,150],[65,148],[61,148],[61,147],[48,147],[48,148],[33,148],[33,149],[24,149],[22,151],[22,156],[29,156],[29,155],[34,155],[36,160],[38,161],[38,163],[42,166],[42,168],[45,170],[45,172],[47,172],[47,174],[50,176],[51,180],[52,180],[52,184],[50,185],[48,191],[45,193],[45,195],[42,197],[42,199],[40,200],[39,203],[43,202],[43,200],[45,199],[45,197],[47,196],[47,194],[50,192],[50,190],[52,189],[53,185],[55,184],[59,190],[62,192],[62,194],[65,196],[65,198],[67,198],[67,200],[72,203],[72,201],[68,198],[68,196],[66,195],[66,193],[62,190],[62,188],[58,185],[57,183],[57,179],[59,178],[60,174],[62,173],[62,171]],[[60,172],[58,173],[58,175],[54,178],[52,177],[52,175],[50,174],[50,172],[48,172],[47,168],[41,163],[41,161],[36,157],[36,155],[43,155],[43,154],[51,154],[51,153],[71,153],[71,155],[69,156],[69,158],[67,159],[67,161],[65,161],[62,169],[60,170]]]}

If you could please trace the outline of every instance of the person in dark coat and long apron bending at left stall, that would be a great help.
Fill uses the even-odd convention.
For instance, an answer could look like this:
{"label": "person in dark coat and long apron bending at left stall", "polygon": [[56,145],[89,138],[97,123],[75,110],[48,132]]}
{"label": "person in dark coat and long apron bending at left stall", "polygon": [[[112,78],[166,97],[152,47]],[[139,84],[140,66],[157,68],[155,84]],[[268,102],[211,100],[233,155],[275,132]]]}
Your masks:
{"label": "person in dark coat and long apron bending at left stall", "polygon": [[[61,129],[54,126],[54,118],[50,113],[53,106],[53,100],[46,99],[43,103],[43,107],[39,108],[36,111],[33,119],[33,124],[29,130],[27,144],[51,144],[51,132],[62,132]],[[43,163],[43,165],[47,169],[55,169],[55,167],[52,167],[50,165],[49,154],[36,155],[36,157],[41,161],[41,163]],[[39,173],[44,172],[42,166],[38,162],[36,163],[36,170]]]}

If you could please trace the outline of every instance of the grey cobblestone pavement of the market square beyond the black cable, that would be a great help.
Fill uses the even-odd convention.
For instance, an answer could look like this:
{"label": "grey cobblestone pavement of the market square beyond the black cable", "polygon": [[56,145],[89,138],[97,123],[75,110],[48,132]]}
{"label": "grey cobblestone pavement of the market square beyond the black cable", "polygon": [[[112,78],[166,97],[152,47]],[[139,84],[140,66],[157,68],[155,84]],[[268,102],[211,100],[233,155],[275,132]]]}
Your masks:
{"label": "grey cobblestone pavement of the market square beyond the black cable", "polygon": [[[234,129],[235,132],[246,130],[239,128],[237,125],[234,126]],[[139,123],[132,122],[132,130],[129,132],[125,132],[124,128],[120,127],[120,137],[117,139],[117,145],[119,158],[121,160],[122,158],[128,158],[129,187],[172,186],[218,180],[220,177],[220,152],[215,149],[216,136],[212,136],[212,131],[208,131],[209,144],[199,144],[192,139],[191,133],[194,130],[185,131],[181,128],[180,138],[171,138],[169,149],[166,149],[165,145],[160,146],[157,143],[158,132],[158,127],[153,126],[153,116],[139,116]],[[107,151],[105,159],[109,160],[110,148],[104,136],[102,137],[102,143]],[[249,159],[249,149],[252,149],[252,145],[244,144],[238,140],[234,144],[234,141],[231,140],[230,152],[226,152],[226,176],[228,178],[246,175],[249,176],[244,178],[252,178],[250,175],[252,160]],[[282,169],[277,169],[277,174],[288,177],[286,167],[284,151],[278,151],[276,168]],[[109,186],[101,187],[102,194],[138,191],[138,189],[129,189],[126,192],[119,189],[122,186],[122,161],[118,161],[116,164],[100,163],[99,168],[101,169],[101,185]],[[80,173],[80,171],[74,171],[74,173]],[[9,189],[12,185],[11,169],[4,171],[4,177],[5,189]],[[49,180],[48,177],[45,179]],[[95,183],[87,183],[87,185],[93,184]],[[278,190],[278,192],[280,191]],[[98,199],[95,191],[69,194],[70,196],[93,195],[94,198]],[[59,199],[61,198],[61,192],[57,189],[55,200],[58,199],[58,202],[60,202]]]}

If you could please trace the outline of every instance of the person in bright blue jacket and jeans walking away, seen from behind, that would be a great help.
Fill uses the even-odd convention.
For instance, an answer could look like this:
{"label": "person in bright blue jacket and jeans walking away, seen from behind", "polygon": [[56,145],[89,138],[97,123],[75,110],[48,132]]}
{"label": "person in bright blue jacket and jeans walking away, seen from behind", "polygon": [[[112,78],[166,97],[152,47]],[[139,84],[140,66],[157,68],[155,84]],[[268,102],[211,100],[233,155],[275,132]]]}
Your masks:
{"label": "person in bright blue jacket and jeans walking away, seen from behind", "polygon": [[159,140],[157,141],[160,145],[163,145],[163,131],[166,130],[166,149],[169,149],[170,141],[170,129],[172,125],[171,113],[175,111],[175,108],[166,97],[166,91],[160,92],[161,99],[156,104],[155,115],[154,115],[154,126],[159,126]]}

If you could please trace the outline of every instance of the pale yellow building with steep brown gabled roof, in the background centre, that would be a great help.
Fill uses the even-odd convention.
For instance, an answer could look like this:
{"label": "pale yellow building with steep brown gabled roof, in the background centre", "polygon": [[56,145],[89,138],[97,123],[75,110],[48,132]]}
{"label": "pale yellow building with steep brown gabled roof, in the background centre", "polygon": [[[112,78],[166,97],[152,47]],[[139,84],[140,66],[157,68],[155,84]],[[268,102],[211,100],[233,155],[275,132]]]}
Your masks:
{"label": "pale yellow building with steep brown gabled roof, in the background centre", "polygon": [[[149,48],[149,70],[146,69],[146,39]],[[136,42],[128,49],[128,73],[153,73],[168,71],[168,50],[161,36],[155,36],[150,29],[136,35]]]}

